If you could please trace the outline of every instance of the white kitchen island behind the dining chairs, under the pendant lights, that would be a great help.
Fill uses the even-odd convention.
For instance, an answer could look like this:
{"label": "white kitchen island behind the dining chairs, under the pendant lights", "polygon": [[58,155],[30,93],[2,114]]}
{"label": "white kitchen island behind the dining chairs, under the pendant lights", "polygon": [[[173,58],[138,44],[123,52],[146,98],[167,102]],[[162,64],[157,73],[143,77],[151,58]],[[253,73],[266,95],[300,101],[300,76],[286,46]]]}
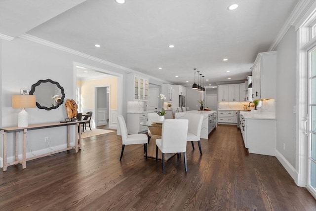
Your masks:
{"label": "white kitchen island behind the dining chairs, under the pendant lights", "polygon": [[208,139],[208,134],[217,127],[217,111],[184,111],[177,112],[176,119],[184,117],[186,114],[199,114],[203,116],[201,138]]}

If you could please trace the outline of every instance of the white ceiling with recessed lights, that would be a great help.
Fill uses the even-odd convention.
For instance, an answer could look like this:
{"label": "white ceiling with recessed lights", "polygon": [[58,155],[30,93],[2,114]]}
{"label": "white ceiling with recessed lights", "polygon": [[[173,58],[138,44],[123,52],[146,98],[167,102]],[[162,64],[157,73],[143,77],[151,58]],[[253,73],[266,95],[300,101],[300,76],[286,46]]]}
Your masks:
{"label": "white ceiling with recessed lights", "polygon": [[193,84],[197,68],[208,85],[251,75],[297,2],[0,0],[0,34],[29,34],[173,84]]}

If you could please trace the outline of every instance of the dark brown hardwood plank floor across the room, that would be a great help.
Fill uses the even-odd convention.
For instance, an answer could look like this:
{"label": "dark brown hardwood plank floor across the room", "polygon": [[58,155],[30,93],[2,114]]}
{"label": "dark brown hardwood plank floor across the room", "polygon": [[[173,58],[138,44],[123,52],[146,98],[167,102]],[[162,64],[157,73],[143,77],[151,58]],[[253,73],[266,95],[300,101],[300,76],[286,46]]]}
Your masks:
{"label": "dark brown hardwood plank floor across the room", "polygon": [[[276,157],[247,154],[236,126],[219,125],[187,145],[188,172],[173,157],[162,174],[161,161],[146,160],[143,145],[125,147],[107,133],[73,150],[0,171],[0,211],[23,210],[208,210],[316,211],[316,200]],[[2,170],[2,169],[1,169]]]}

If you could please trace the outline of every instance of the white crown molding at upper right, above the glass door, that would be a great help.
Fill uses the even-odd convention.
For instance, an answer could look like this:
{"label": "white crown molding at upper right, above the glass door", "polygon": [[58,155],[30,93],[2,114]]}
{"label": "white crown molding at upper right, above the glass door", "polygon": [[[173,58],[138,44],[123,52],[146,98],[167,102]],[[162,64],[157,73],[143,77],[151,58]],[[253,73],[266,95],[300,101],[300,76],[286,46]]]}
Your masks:
{"label": "white crown molding at upper right, above the glass door", "polygon": [[295,26],[300,21],[300,19],[304,16],[306,11],[311,7],[311,5],[314,2],[315,2],[315,0],[299,0],[298,1],[298,3],[295,5],[293,11],[291,12],[290,16],[285,21],[280,32],[276,36],[275,41],[270,46],[269,51],[273,51],[276,49],[278,43],[282,40],[284,35],[290,29],[290,27]]}

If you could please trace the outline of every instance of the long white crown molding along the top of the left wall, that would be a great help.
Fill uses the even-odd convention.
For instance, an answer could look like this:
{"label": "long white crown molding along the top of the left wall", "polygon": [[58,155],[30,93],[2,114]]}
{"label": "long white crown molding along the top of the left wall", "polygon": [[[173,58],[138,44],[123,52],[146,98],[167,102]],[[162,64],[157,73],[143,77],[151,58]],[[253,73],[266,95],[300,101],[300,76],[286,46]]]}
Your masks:
{"label": "long white crown molding along the top of the left wall", "polygon": [[155,77],[153,77],[153,76],[143,74],[143,73],[138,72],[138,71],[136,71],[136,70],[132,70],[132,69],[129,69],[129,68],[120,66],[120,65],[118,65],[118,64],[114,64],[114,63],[112,63],[112,62],[108,62],[108,61],[106,61],[106,60],[99,59],[99,58],[94,57],[94,56],[90,56],[90,55],[88,55],[88,54],[79,52],[79,51],[77,51],[77,50],[74,50],[74,49],[71,49],[71,48],[68,48],[68,47],[65,47],[65,46],[56,44],[56,43],[54,43],[54,42],[49,42],[49,41],[40,39],[40,38],[38,38],[38,37],[34,37],[34,36],[32,36],[32,35],[22,34],[21,36],[19,36],[19,38],[22,38],[22,39],[25,39],[25,40],[29,40],[29,41],[32,41],[32,42],[37,42],[37,43],[39,43],[39,44],[43,44],[43,45],[46,45],[46,46],[49,46],[49,47],[52,47],[52,48],[55,48],[55,49],[58,49],[58,50],[62,50],[62,51],[65,51],[65,52],[67,52],[67,53],[71,53],[71,54],[74,54],[74,55],[77,55],[77,56],[80,56],[80,57],[83,57],[83,58],[87,58],[87,59],[90,59],[90,60],[93,60],[93,61],[96,61],[96,62],[99,62],[99,63],[102,63],[102,64],[106,64],[106,65],[108,65],[108,66],[118,68],[118,69],[123,70],[123,71],[126,71],[126,72],[128,72],[128,73],[135,73],[135,74],[138,74],[138,75],[147,77],[147,78],[155,79],[155,80],[160,81],[160,82],[162,82],[162,83],[170,84],[170,82],[168,82],[168,81],[164,81],[164,80],[155,78]]}

